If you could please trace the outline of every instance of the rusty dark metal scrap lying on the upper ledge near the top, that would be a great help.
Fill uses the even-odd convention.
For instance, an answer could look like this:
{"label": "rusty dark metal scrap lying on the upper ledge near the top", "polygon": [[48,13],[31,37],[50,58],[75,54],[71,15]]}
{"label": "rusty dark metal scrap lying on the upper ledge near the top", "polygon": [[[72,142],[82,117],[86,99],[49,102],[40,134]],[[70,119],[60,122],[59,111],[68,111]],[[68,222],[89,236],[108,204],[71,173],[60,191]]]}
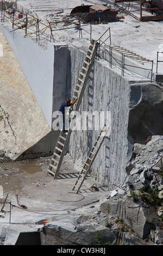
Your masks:
{"label": "rusty dark metal scrap lying on the upper ledge near the top", "polygon": [[80,5],[75,7],[70,15],[77,15],[80,21],[89,24],[108,23],[117,20],[117,11],[105,4]]}

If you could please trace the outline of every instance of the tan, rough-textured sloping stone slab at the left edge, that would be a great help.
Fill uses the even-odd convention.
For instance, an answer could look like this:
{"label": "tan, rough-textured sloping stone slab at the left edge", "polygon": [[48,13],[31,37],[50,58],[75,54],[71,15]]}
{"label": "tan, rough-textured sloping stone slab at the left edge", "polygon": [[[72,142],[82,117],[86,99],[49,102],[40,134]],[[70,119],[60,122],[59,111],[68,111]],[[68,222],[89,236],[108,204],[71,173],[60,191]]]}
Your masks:
{"label": "tan, rough-textured sloping stone slab at the left edge", "polygon": [[16,160],[51,129],[1,30],[0,45],[0,151]]}

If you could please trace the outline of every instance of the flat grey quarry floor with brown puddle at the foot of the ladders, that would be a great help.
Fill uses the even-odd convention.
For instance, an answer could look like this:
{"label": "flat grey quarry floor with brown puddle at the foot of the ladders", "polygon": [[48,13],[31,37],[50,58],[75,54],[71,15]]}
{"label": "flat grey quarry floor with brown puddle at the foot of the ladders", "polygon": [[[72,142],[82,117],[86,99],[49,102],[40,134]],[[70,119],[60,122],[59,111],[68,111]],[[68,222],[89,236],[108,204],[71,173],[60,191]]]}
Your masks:
{"label": "flat grey quarry floor with brown puddle at the foot of the ladders", "polygon": [[[62,161],[57,179],[47,174],[50,161],[51,157],[41,157],[0,163],[0,185],[3,187],[3,197],[0,198],[0,210],[3,208],[0,223],[26,223],[33,227],[37,220],[63,219],[64,216],[67,217],[67,210],[82,209],[86,206],[88,212],[92,210],[92,204],[95,207],[93,211],[99,210],[99,198],[108,194],[108,190],[91,176],[87,176],[79,193],[76,193],[72,191],[72,187],[79,171],[74,168],[74,161],[69,154]],[[97,185],[98,191],[91,190],[93,184]],[[7,204],[3,204],[4,202]],[[11,213],[9,202],[12,205]],[[60,214],[61,217],[58,216]]]}

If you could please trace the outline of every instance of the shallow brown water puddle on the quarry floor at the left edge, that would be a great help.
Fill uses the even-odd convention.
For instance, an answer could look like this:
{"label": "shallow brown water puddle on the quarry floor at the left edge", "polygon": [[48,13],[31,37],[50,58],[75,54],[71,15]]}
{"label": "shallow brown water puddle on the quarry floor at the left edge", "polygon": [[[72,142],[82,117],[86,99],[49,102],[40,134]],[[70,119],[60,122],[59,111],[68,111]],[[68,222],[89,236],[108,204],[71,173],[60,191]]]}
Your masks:
{"label": "shallow brown water puddle on the quarry floor at the left edge", "polygon": [[8,163],[1,163],[1,169],[4,170],[21,170],[24,174],[30,175],[36,172],[42,172],[41,166],[33,163],[20,163],[20,162],[8,162]]}

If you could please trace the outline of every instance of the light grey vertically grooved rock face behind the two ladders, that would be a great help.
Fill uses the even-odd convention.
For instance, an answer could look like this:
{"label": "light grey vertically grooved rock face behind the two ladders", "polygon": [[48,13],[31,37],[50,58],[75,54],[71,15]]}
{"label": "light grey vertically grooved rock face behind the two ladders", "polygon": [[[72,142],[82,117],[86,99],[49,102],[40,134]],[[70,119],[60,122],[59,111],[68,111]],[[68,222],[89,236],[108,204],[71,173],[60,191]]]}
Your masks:
{"label": "light grey vertically grooved rock face behind the two ladders", "polygon": [[[85,54],[71,47],[71,77],[76,86]],[[79,64],[79,65],[78,65]],[[72,88],[72,92],[73,92]],[[106,137],[92,167],[92,175],[109,187],[120,185],[128,162],[128,116],[130,87],[128,82],[109,68],[108,62],[95,60],[79,112],[111,113],[110,136]],[[83,124],[83,123],[82,123]],[[86,160],[99,131],[74,131],[70,152],[74,159]]]}

